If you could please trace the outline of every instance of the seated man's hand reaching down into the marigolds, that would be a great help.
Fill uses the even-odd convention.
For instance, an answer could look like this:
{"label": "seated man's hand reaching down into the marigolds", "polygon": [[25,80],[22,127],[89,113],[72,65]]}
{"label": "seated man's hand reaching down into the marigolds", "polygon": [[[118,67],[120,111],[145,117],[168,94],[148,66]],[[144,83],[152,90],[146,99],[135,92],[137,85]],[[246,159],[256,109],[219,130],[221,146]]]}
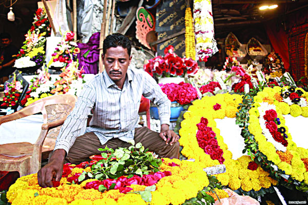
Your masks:
{"label": "seated man's hand reaching down into the marigolds", "polygon": [[48,162],[40,171],[37,172],[38,185],[43,188],[52,187],[52,180],[60,181],[63,172],[65,150],[55,150]]}

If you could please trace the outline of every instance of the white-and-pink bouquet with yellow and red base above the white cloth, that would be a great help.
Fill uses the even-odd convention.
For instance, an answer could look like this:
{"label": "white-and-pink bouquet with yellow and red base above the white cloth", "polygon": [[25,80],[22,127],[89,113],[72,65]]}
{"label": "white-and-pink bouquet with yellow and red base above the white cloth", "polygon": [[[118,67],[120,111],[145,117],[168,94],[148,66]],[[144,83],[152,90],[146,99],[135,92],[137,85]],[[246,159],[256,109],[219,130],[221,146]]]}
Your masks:
{"label": "white-and-pink bouquet with yellow and red base above the white cloth", "polygon": [[51,77],[48,73],[48,68],[38,69],[37,73],[38,75],[30,80],[29,91],[26,92],[25,98],[21,101],[23,106],[28,106],[36,100],[52,95],[50,91],[54,88],[54,85],[50,81]]}

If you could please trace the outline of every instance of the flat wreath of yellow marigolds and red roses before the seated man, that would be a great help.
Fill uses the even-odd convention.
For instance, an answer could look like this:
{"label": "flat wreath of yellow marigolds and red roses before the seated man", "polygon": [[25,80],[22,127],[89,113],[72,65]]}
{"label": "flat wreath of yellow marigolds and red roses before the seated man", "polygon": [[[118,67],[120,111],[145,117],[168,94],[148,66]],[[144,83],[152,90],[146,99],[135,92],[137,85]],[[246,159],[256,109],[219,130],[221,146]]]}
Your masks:
{"label": "flat wreath of yellow marigolds and red roses before the seated man", "polygon": [[[90,165],[90,166],[89,166]],[[118,179],[87,179],[74,184],[92,163],[66,165],[61,181],[53,188],[41,188],[37,174],[18,178],[7,192],[9,202],[14,204],[147,204],[140,193],[147,186],[156,183],[151,191],[151,204],[182,204],[186,199],[196,197],[203,187],[209,185],[206,172],[200,163],[164,158],[161,172],[142,177],[119,177]],[[88,167],[87,167],[88,166]],[[167,173],[167,174],[166,174]],[[100,192],[99,186],[113,189]],[[132,193],[133,192],[133,193]],[[125,194],[126,193],[126,194]]]}

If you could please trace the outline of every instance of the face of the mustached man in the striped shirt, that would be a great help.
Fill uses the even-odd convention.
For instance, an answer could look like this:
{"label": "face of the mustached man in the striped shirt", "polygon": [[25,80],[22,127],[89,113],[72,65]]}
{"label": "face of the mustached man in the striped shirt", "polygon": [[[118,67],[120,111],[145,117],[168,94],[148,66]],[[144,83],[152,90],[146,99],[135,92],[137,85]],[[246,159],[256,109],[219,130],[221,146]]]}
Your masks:
{"label": "face of the mustached man in the striped shirt", "polygon": [[108,48],[103,55],[106,72],[120,89],[123,88],[130,61],[131,56],[128,55],[127,49],[121,46]]}

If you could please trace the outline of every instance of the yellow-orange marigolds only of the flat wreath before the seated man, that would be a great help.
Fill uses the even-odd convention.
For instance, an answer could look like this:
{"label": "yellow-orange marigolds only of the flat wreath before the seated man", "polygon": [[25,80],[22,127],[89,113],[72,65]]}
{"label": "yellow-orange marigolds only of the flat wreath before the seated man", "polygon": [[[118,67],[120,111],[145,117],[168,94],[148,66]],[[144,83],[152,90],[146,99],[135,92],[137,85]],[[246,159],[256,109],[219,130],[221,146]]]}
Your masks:
{"label": "yellow-orange marigolds only of the flat wreath before the seated man", "polygon": [[[175,163],[179,166],[169,166]],[[88,171],[76,168],[75,165],[68,176]],[[196,197],[197,193],[209,185],[203,165],[198,162],[180,161],[164,158],[161,171],[170,171],[171,176],[161,178],[156,191],[152,193],[151,204],[182,204],[186,199]],[[73,174],[74,173],[74,174]],[[92,180],[92,179],[91,179]],[[88,180],[87,182],[89,182]],[[93,181],[93,180],[92,180]],[[37,174],[30,174],[18,178],[7,192],[9,202],[14,204],[144,204],[147,203],[139,194],[123,194],[119,190],[109,190],[101,193],[94,189],[84,189],[86,182],[80,185],[69,183],[62,177],[60,186],[56,188],[41,188],[37,183]],[[130,185],[133,191],[143,191],[145,186]]]}

